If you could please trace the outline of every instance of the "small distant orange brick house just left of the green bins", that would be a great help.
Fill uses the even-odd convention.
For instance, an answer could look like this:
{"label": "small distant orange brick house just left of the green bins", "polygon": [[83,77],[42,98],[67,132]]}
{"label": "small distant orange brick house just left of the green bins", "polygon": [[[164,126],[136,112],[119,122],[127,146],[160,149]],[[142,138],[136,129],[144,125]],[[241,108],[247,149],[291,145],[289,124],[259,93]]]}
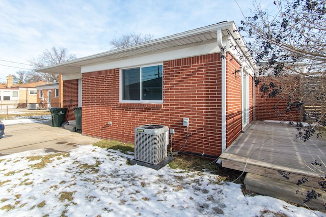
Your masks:
{"label": "small distant orange brick house just left of the green bins", "polygon": [[36,87],[37,106],[39,109],[61,107],[59,83],[44,84]]}

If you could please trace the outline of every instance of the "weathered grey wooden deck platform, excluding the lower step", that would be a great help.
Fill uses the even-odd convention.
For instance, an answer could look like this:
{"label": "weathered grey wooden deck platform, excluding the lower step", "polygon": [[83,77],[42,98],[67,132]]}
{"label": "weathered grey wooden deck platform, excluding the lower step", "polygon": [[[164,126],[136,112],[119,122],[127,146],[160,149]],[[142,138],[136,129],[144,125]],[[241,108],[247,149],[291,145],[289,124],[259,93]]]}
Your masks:
{"label": "weathered grey wooden deck platform, excluding the lower step", "polygon": [[[246,172],[255,171],[259,175],[267,168],[316,179],[323,177],[326,140],[313,137],[306,142],[294,141],[296,133],[296,127],[255,121],[221,154],[222,166],[237,170],[246,166]],[[315,161],[321,166],[313,165]]]}

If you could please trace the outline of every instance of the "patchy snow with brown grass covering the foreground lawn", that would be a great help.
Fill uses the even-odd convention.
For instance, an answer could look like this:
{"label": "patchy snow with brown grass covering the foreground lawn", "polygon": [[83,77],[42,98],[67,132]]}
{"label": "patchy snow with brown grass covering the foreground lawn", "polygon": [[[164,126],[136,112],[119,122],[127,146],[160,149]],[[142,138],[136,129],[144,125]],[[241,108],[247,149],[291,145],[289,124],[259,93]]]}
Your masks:
{"label": "patchy snow with brown grass covering the foreground lawn", "polygon": [[[132,154],[93,145],[0,157],[0,216],[326,216],[267,196],[243,196],[240,184],[208,172],[156,171],[127,165],[128,159]],[[38,169],[41,162],[46,166]]]}

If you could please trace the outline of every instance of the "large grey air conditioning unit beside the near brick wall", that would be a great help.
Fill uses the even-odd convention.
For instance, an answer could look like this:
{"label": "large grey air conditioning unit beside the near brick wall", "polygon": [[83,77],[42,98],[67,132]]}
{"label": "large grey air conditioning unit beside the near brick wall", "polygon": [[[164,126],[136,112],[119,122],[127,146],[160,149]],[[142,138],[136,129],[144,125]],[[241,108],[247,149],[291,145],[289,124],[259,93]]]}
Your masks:
{"label": "large grey air conditioning unit beside the near brick wall", "polygon": [[157,165],[167,158],[169,128],[162,125],[143,125],[134,130],[134,159]]}

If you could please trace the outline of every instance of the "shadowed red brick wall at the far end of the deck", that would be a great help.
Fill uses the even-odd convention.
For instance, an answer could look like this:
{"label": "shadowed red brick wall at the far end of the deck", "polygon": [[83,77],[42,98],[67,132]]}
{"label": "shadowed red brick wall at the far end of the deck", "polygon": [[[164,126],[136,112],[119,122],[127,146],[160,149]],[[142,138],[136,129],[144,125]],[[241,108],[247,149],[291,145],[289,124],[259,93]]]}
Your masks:
{"label": "shadowed red brick wall at the far end of the deck", "polygon": [[[277,83],[277,81],[274,81]],[[256,86],[256,119],[257,120],[291,120],[298,121],[300,114],[296,111],[286,111],[286,104],[288,102],[288,96],[279,95],[276,98],[268,98],[265,95],[263,98],[262,92],[259,90],[261,85]],[[277,109],[275,109],[277,108]]]}

